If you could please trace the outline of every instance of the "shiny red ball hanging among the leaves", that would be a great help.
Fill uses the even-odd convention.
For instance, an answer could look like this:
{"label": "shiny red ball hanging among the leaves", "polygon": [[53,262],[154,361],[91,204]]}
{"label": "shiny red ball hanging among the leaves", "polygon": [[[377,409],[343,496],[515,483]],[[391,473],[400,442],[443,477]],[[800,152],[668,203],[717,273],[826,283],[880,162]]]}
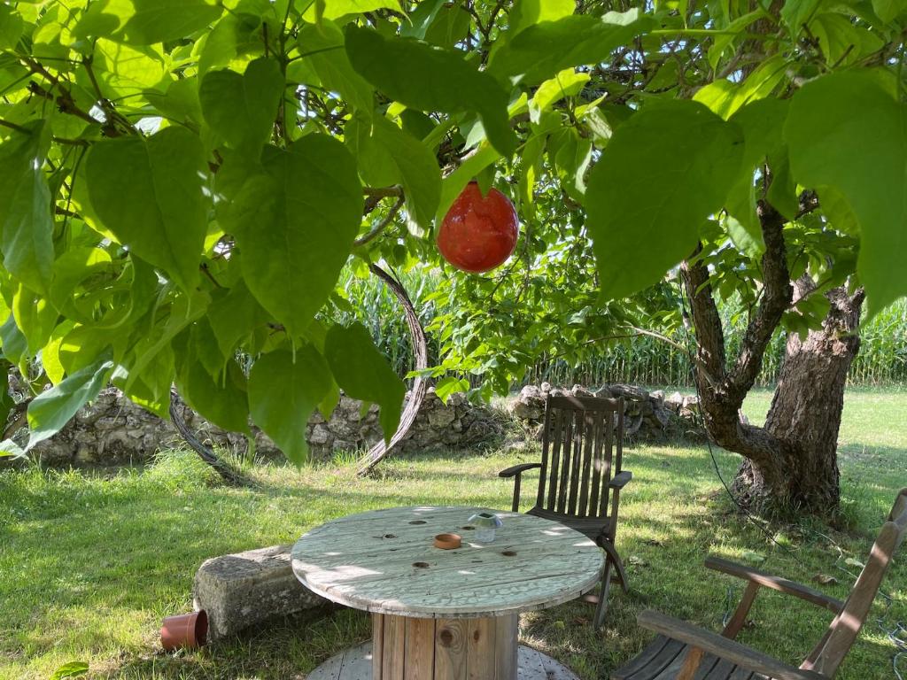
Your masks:
{"label": "shiny red ball hanging among the leaves", "polygon": [[438,230],[438,250],[453,267],[475,274],[511,257],[520,223],[510,199],[497,189],[483,196],[471,181],[453,201]]}

